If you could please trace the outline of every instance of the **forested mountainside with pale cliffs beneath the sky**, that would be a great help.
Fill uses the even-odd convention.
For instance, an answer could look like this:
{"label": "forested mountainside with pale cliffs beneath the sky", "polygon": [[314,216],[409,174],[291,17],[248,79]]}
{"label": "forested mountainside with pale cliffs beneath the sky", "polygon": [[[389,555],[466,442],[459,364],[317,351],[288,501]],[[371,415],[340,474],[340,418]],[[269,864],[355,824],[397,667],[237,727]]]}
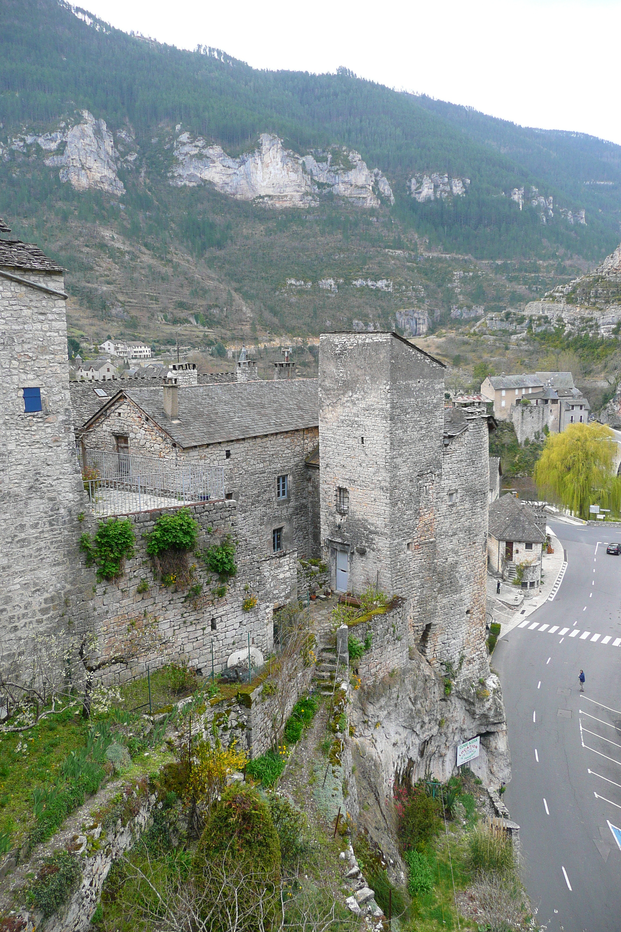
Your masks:
{"label": "forested mountainside with pale cliffs beneath the sky", "polygon": [[520,308],[618,242],[620,146],[57,0],[0,21],[0,215],[67,268],[78,331],[415,330]]}

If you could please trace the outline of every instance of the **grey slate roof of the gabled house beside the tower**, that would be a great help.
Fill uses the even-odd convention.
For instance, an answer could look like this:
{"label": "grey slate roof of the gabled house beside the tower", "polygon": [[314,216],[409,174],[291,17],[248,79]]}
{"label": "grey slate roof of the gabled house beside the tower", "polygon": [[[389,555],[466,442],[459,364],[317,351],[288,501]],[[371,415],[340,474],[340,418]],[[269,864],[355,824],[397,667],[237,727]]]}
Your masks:
{"label": "grey slate roof of the gabled house beside the tower", "polygon": [[317,378],[180,386],[179,423],[164,414],[161,388],[123,391],[183,448],[319,424]]}

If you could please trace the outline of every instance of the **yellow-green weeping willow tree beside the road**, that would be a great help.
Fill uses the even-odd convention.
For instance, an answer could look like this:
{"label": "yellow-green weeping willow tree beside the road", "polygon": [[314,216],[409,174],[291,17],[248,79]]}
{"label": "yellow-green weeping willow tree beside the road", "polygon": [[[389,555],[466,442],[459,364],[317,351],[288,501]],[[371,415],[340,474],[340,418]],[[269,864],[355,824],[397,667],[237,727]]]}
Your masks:
{"label": "yellow-green weeping willow tree beside the road", "polygon": [[621,478],[614,469],[617,445],[604,424],[573,424],[550,434],[534,468],[539,496],[588,517],[588,506],[621,510]]}

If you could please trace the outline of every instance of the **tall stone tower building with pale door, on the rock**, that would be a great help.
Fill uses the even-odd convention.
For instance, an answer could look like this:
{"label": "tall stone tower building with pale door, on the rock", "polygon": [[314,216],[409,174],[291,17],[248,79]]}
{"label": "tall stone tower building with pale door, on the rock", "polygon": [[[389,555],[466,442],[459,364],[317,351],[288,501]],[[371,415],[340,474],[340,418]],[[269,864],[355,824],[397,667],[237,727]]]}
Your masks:
{"label": "tall stone tower building with pale door, on the rock", "polygon": [[484,671],[488,416],[395,334],[320,338],[322,556],[337,591],[406,601],[430,663]]}

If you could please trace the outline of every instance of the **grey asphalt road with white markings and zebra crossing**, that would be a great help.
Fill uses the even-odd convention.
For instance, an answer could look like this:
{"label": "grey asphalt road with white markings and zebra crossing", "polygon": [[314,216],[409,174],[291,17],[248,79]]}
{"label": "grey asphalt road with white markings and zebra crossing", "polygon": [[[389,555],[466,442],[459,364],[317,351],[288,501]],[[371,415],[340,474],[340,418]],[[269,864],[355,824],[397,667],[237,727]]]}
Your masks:
{"label": "grey asphalt road with white markings and zebra crossing", "polygon": [[598,541],[621,540],[621,528],[550,526],[567,551],[560,589],[493,653],[511,748],[506,805],[538,925],[620,932],[621,556]]}

